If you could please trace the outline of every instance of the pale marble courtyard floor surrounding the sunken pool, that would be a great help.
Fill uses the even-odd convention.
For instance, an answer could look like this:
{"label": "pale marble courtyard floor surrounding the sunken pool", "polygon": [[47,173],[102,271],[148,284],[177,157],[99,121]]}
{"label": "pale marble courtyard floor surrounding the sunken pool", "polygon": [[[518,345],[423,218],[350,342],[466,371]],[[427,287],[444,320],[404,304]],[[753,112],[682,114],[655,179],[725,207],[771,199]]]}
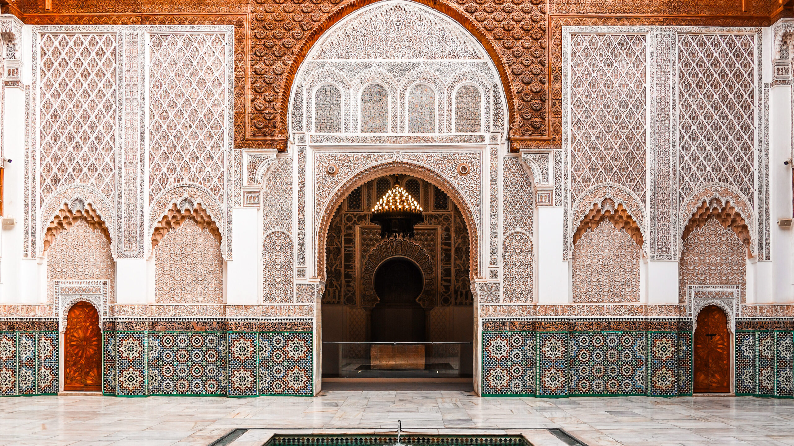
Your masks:
{"label": "pale marble courtyard floor surrounding the sunken pool", "polygon": [[526,433],[536,446],[565,444],[544,430],[553,428],[588,446],[794,445],[791,399],[479,398],[454,388],[345,387],[317,398],[0,398],[0,445],[206,446],[252,428],[231,445],[254,446],[286,429],[375,432],[397,420],[414,433]]}

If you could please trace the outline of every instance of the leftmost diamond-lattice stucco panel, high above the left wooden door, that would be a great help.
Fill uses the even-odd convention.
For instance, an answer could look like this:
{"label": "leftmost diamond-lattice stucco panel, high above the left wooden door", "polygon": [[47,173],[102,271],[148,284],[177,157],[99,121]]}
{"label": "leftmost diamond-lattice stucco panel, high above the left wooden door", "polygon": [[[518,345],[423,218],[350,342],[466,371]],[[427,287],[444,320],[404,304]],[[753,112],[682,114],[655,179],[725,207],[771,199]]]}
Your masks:
{"label": "leftmost diamond-lattice stucco panel, high above the left wooden door", "polygon": [[116,35],[42,33],[39,48],[40,204],[75,183],[114,202]]}

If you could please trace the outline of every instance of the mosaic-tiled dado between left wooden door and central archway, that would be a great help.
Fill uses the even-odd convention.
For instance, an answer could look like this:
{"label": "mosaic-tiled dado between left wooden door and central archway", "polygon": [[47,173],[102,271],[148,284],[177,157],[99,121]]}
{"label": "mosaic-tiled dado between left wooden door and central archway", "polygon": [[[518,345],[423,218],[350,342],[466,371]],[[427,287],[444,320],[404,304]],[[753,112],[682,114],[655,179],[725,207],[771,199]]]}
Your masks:
{"label": "mosaic-tiled dado between left wooden door and central archway", "polygon": [[310,320],[106,320],[102,392],[311,396],[312,327]]}

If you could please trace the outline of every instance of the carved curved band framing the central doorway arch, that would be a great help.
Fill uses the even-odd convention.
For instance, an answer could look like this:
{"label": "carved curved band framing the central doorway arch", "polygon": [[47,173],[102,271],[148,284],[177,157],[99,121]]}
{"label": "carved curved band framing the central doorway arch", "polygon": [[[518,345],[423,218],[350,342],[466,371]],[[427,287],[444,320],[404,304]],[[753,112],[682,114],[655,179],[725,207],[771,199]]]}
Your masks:
{"label": "carved curved band framing the central doorway arch", "polygon": [[315,233],[316,236],[314,239],[316,240],[314,276],[320,279],[325,279],[326,277],[326,238],[328,236],[328,229],[330,228],[333,214],[336,213],[336,210],[345,200],[345,197],[364,183],[382,176],[395,174],[410,175],[418,179],[424,179],[443,190],[449,198],[452,198],[453,202],[455,202],[455,206],[461,210],[464,221],[466,222],[470,252],[476,253],[475,255],[469,256],[471,262],[469,265],[469,278],[473,279],[479,277],[480,227],[477,225],[474,215],[475,213],[479,213],[480,210],[472,209],[472,205],[465,198],[465,195],[446,177],[446,175],[422,164],[404,160],[386,161],[360,167],[358,171],[350,175],[340,186],[337,186],[333,192],[329,194],[330,198],[325,203],[325,206],[319,210],[322,217],[320,217],[318,221],[317,232]]}

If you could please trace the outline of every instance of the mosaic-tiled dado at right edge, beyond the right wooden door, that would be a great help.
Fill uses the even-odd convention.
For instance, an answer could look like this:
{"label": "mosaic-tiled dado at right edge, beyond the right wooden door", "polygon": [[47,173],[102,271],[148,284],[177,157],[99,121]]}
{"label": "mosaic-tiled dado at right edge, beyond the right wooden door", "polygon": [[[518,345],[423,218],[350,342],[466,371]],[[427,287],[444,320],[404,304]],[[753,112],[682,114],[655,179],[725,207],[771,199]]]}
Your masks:
{"label": "mosaic-tiled dado at right edge, beyond the right wooden door", "polygon": [[736,394],[794,398],[794,319],[736,320]]}

